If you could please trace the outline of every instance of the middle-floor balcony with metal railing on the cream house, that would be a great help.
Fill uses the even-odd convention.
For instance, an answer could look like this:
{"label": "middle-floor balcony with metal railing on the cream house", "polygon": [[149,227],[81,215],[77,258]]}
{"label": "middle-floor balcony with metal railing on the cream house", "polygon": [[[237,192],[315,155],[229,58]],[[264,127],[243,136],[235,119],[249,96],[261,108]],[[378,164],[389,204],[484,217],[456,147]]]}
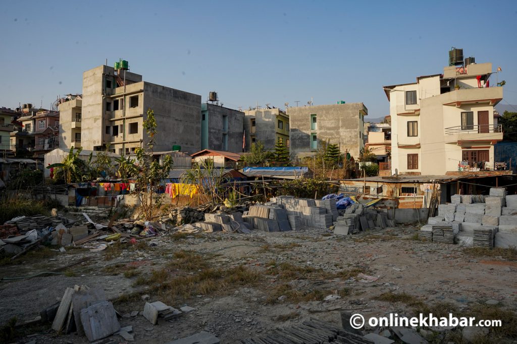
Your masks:
{"label": "middle-floor balcony with metal railing on the cream house", "polygon": [[453,126],[445,128],[445,142],[460,144],[463,142],[485,141],[495,144],[503,140],[503,127],[500,124],[481,124]]}

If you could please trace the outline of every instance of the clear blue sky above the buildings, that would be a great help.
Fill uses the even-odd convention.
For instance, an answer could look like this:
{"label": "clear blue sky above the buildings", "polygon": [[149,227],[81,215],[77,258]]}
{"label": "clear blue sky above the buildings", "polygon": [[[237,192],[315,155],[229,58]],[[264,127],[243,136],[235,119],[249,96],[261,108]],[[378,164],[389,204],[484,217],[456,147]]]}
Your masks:
{"label": "clear blue sky above the buildings", "polygon": [[[0,106],[49,107],[82,72],[124,58],[144,80],[227,107],[364,102],[443,72],[448,50],[500,66],[517,104],[517,1],[6,1]],[[495,84],[495,75],[492,83]]]}

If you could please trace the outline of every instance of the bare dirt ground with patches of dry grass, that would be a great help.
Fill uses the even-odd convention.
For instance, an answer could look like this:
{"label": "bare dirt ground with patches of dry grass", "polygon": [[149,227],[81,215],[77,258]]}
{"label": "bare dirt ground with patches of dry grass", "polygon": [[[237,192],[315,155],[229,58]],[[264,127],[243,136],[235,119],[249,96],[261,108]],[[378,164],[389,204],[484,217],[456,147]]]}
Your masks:
{"label": "bare dirt ground with patches of dry grass", "polygon": [[[166,343],[199,331],[231,343],[309,317],[341,326],[341,310],[367,318],[418,310],[504,316],[507,327],[491,329],[490,338],[515,340],[515,257],[417,241],[415,233],[413,227],[347,237],[316,230],[176,233],[101,252],[75,249],[61,254],[47,249],[44,255],[28,254],[16,265],[1,266],[0,277],[28,276],[90,259],[66,274],[0,282],[0,324],[14,316],[20,321],[36,317],[62,297],[66,287],[77,284],[104,289],[123,315],[120,325],[133,327],[136,343]],[[356,278],[361,272],[378,280],[362,283]],[[153,326],[141,315],[129,317],[143,310],[143,294],[150,302],[195,310]],[[340,298],[323,301],[330,294]],[[488,306],[488,300],[499,303]],[[14,341],[21,343],[87,342],[75,334],[58,336],[50,324],[17,330]],[[459,333],[431,334],[430,339],[461,342]],[[111,339],[125,342],[119,336]]]}

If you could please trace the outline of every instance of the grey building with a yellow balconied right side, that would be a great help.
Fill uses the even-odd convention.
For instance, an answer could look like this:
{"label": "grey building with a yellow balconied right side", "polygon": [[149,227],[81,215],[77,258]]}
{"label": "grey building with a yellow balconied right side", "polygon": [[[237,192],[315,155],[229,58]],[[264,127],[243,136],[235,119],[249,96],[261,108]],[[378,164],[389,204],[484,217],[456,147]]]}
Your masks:
{"label": "grey building with a yellow balconied right side", "polygon": [[266,150],[275,149],[277,143],[290,147],[289,115],[285,111],[276,107],[250,108],[244,114],[246,151],[257,141],[262,142]]}

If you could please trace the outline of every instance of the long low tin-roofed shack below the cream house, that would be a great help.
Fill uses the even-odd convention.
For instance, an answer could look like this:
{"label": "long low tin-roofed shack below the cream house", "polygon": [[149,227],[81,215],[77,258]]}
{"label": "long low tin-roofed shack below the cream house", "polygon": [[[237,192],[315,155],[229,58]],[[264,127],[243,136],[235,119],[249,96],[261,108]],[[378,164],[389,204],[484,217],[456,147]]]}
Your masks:
{"label": "long low tin-roofed shack below the cream house", "polygon": [[517,175],[511,171],[450,172],[450,175],[399,175],[366,177],[340,181],[339,191],[348,196],[396,200],[398,208],[429,207],[432,185],[440,191],[439,203],[454,194],[488,195],[491,187],[505,187],[515,193]]}

